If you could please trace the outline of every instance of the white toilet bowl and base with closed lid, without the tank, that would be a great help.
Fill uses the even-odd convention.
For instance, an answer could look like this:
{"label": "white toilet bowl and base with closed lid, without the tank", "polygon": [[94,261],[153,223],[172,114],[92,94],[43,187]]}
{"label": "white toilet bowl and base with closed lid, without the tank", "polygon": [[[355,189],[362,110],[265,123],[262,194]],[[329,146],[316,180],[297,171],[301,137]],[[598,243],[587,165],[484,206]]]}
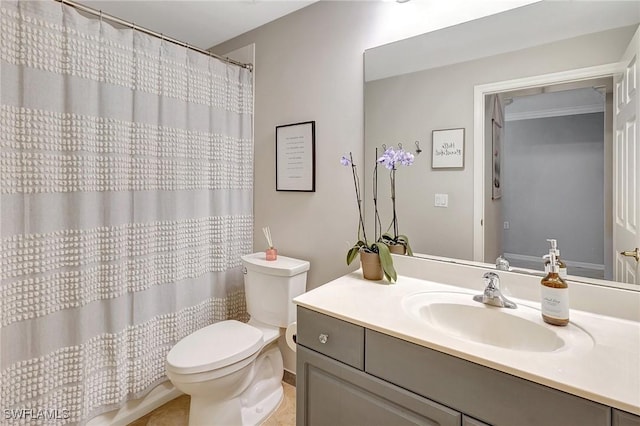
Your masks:
{"label": "white toilet bowl and base with closed lid, without the tank", "polygon": [[[280,335],[229,320],[187,336],[167,355],[167,376],[191,395],[190,425],[253,425],[282,400]],[[265,325],[259,325],[264,328]],[[270,340],[270,341],[269,341]]]}

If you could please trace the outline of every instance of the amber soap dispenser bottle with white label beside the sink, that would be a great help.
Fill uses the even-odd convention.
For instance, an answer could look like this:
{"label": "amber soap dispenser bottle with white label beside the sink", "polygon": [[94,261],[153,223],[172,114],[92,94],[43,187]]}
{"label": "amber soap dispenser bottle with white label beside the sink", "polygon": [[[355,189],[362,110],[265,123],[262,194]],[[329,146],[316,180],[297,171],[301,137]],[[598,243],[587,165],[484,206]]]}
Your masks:
{"label": "amber soap dispenser bottle with white label beside the sink", "polygon": [[555,250],[549,250],[549,273],[540,282],[542,319],[552,325],[569,324],[569,286],[559,275]]}

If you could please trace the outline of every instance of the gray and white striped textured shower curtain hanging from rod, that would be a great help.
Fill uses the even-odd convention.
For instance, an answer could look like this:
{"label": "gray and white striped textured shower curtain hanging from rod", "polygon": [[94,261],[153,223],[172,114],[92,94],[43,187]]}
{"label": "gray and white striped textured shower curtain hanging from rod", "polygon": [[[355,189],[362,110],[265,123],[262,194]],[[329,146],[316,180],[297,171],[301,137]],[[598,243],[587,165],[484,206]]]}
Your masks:
{"label": "gray and white striped textured shower curtain hanging from rod", "polygon": [[83,424],[246,319],[252,78],[53,1],[0,27],[0,423]]}

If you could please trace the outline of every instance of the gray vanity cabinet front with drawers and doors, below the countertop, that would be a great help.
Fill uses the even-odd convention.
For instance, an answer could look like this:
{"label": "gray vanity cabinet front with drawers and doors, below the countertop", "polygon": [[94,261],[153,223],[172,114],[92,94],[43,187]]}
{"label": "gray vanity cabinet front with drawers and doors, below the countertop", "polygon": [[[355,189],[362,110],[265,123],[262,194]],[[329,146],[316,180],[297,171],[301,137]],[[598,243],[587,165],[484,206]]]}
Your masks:
{"label": "gray vanity cabinet front with drawers and doors, below the countertop", "polygon": [[640,426],[640,418],[298,307],[297,422]]}

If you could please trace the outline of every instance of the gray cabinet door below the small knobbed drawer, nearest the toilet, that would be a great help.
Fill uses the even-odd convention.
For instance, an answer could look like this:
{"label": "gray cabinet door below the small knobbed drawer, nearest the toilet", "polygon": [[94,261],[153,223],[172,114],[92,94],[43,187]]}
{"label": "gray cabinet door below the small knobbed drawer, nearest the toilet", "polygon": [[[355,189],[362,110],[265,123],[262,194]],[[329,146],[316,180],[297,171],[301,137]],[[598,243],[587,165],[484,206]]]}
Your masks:
{"label": "gray cabinet door below the small knobbed drawer, nearest the toilet", "polygon": [[298,426],[458,426],[461,414],[298,346]]}

